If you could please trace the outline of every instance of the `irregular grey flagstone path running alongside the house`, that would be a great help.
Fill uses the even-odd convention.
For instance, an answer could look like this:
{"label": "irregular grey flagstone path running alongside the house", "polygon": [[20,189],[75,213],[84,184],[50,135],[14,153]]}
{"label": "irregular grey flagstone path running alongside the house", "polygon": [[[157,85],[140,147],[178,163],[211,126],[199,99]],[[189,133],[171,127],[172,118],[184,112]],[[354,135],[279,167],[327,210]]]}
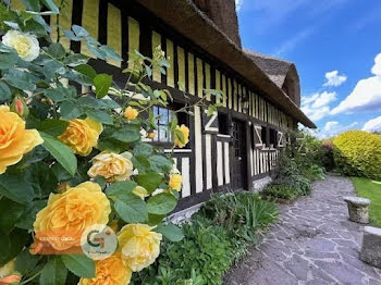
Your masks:
{"label": "irregular grey flagstone path running alongside the house", "polygon": [[381,285],[381,270],[359,260],[362,226],[349,222],[351,181],[329,176],[309,197],[281,206],[280,222],[226,274],[226,285]]}

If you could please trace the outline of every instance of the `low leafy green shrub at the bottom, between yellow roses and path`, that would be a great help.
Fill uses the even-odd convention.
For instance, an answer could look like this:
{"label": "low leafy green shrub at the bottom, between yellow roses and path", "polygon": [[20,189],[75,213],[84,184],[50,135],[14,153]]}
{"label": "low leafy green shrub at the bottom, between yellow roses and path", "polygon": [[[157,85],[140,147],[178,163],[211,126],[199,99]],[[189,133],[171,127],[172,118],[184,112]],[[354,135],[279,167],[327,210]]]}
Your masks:
{"label": "low leafy green shrub at the bottom, between yellow roses and path", "polygon": [[226,230],[200,218],[182,228],[184,239],[164,243],[156,268],[136,275],[134,284],[186,284],[192,275],[200,285],[222,284],[223,273],[233,263],[233,244]]}

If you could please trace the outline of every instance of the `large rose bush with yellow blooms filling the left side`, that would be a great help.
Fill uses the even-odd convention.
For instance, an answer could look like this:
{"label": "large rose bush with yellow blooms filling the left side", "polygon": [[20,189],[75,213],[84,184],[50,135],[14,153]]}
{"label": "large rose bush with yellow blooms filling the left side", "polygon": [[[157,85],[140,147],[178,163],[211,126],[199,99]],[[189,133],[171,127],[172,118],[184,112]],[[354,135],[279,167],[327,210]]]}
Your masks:
{"label": "large rose bush with yellow blooms filling the left side", "polygon": [[[172,100],[169,90],[149,86],[153,71],[169,67],[165,54],[160,47],[152,59],[131,53],[120,86],[60,44],[66,37],[105,64],[122,61],[83,27],[61,29],[57,15],[65,1],[23,3],[23,11],[0,3],[1,282],[128,284],[158,258],[162,238],[180,239],[165,216],[176,207],[182,177],[172,152],[149,144],[153,107]],[[56,25],[45,15],[56,15]],[[218,106],[205,99],[210,94],[221,96],[205,90],[175,113],[192,114],[195,104],[214,112]],[[175,116],[168,129],[172,150],[188,144],[189,129]],[[119,239],[116,251],[98,261],[76,251],[94,224],[109,225]]]}

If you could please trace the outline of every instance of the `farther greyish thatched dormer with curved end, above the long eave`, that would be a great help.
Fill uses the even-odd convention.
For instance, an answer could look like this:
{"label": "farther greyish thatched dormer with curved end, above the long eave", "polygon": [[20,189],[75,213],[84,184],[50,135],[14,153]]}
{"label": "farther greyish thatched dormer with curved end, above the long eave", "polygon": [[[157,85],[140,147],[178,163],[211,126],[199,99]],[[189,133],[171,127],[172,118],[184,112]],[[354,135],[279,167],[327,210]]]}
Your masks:
{"label": "farther greyish thatched dormer with curved end, above the long eave", "polygon": [[244,51],[266,72],[278,87],[282,88],[300,107],[299,75],[294,63],[251,50],[245,49]]}

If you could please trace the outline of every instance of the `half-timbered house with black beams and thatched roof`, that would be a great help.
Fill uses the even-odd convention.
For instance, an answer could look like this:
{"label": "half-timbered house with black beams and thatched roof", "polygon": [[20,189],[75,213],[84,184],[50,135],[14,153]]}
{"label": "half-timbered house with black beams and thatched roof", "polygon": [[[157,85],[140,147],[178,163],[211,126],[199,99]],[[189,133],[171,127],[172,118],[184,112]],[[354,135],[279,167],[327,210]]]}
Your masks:
{"label": "half-timbered house with black beams and thatched roof", "polygon": [[[171,110],[185,102],[177,83],[192,99],[201,97],[204,88],[226,95],[212,116],[197,107],[194,116],[179,117],[189,126],[190,141],[174,153],[184,178],[177,210],[207,200],[211,191],[258,188],[297,123],[316,127],[299,109],[295,65],[242,48],[234,0],[67,0],[60,25],[73,24],[122,55],[122,63],[91,61],[121,84],[126,80],[121,71],[128,52],[151,57],[161,45],[171,67],[165,75],[153,73],[151,85],[168,88],[174,103],[156,108],[162,114],[156,144],[170,142],[165,124]],[[91,57],[82,42],[63,45]]]}

